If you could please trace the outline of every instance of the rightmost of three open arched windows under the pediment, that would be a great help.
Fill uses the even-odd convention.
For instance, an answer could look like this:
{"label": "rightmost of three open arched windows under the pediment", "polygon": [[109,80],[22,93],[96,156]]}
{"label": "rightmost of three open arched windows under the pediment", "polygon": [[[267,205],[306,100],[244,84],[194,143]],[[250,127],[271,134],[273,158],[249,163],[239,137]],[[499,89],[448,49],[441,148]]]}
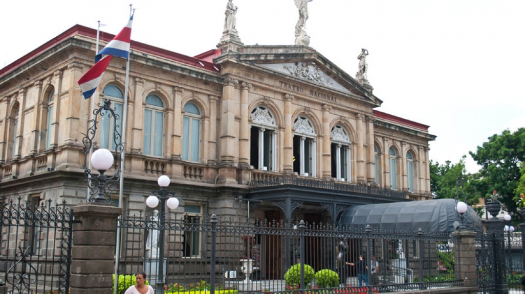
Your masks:
{"label": "rightmost of three open arched windows under the pediment", "polygon": [[332,178],[338,181],[352,181],[350,138],[342,126],[332,128],[331,138],[331,164]]}

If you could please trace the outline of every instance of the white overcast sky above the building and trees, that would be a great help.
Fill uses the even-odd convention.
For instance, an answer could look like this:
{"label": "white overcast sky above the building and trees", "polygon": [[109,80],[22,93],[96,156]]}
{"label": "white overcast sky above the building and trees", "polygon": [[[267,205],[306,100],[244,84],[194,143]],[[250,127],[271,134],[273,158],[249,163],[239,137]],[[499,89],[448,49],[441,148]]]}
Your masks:
{"label": "white overcast sky above the building and trees", "polygon": [[[188,56],[216,48],[227,0],[2,1],[0,67],[80,24]],[[234,0],[246,45],[293,45],[293,0]],[[73,8],[76,7],[76,8]],[[429,125],[430,158],[468,155],[503,129],[525,126],[525,1],[313,0],[310,46],[353,77],[361,48],[380,111]]]}

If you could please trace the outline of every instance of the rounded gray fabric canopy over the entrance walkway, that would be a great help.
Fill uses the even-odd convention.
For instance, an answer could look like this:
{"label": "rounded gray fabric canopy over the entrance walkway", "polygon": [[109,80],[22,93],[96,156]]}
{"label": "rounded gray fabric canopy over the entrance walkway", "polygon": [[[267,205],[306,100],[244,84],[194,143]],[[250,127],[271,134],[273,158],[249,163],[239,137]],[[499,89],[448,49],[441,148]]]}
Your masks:
{"label": "rounded gray fabric canopy over the entrance walkway", "polygon": [[[483,231],[478,214],[470,206],[465,221],[468,230]],[[435,199],[354,205],[341,214],[339,222],[353,227],[370,225],[381,230],[416,232],[421,228],[423,232],[453,232],[459,224],[459,216],[454,199]]]}

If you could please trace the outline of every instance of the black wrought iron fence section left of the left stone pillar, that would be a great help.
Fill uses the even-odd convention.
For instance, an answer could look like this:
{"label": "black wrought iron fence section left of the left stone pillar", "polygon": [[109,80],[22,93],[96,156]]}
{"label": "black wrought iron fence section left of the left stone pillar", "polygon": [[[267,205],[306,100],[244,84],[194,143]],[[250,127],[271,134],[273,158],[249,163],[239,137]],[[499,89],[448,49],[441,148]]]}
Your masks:
{"label": "black wrought iron fence section left of the left stone pillar", "polygon": [[72,211],[66,202],[1,199],[0,274],[9,293],[68,293]]}

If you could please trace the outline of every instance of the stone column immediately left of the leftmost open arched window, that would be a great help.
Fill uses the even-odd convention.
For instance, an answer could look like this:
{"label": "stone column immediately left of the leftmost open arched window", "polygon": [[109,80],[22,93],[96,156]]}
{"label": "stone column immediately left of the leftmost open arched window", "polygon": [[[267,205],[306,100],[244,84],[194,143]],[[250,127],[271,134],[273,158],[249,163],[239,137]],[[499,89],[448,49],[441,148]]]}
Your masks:
{"label": "stone column immediately left of the leftmost open arched window", "polygon": [[[251,89],[251,84],[244,82],[240,86],[239,167],[246,168],[250,165],[248,93]],[[262,168],[262,166],[259,166],[259,168]]]}

